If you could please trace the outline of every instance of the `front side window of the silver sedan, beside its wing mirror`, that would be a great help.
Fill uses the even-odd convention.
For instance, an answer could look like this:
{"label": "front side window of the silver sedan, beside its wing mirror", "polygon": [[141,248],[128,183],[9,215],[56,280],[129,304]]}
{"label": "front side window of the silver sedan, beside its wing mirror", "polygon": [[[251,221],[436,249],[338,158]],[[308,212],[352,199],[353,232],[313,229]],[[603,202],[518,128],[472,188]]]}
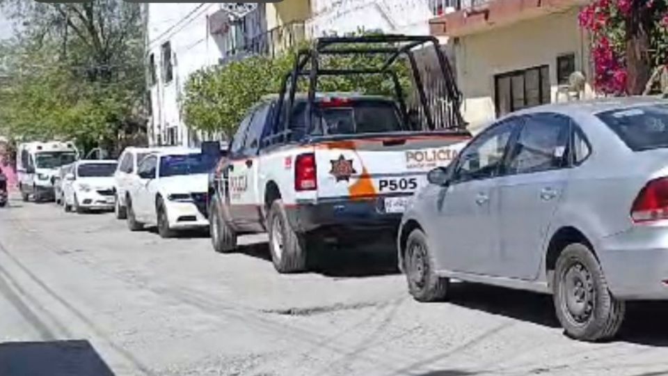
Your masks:
{"label": "front side window of the silver sedan, beside its wing mirror", "polygon": [[472,141],[459,157],[454,179],[466,181],[495,175],[515,126],[516,120],[507,120]]}

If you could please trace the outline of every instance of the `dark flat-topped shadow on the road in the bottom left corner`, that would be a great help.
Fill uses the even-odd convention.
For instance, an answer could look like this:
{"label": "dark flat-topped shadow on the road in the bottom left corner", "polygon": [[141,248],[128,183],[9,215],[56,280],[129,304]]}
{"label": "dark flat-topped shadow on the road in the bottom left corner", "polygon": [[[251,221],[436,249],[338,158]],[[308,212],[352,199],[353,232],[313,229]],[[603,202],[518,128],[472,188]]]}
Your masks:
{"label": "dark flat-topped shadow on the road in the bottom left corner", "polygon": [[0,343],[2,376],[114,376],[88,340]]}

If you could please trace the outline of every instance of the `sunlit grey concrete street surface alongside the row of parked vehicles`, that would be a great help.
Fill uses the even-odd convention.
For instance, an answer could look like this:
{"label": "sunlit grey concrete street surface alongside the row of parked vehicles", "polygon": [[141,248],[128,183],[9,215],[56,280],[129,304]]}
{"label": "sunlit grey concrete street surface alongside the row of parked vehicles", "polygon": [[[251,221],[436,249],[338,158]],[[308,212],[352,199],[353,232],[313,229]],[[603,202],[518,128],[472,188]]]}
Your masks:
{"label": "sunlit grey concrete street surface alongside the row of parked vehicles", "polygon": [[391,257],[339,251],[281,276],[262,236],[241,241],[217,254],[197,234],[11,202],[0,375],[668,375],[666,304],[630,306],[617,341],[579,343],[550,297],[458,283],[418,304]]}

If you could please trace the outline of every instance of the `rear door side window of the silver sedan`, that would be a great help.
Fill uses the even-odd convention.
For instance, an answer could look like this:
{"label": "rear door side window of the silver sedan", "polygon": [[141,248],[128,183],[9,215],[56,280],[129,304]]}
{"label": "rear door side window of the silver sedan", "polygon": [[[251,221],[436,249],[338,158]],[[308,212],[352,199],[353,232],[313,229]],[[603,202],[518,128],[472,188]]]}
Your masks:
{"label": "rear door side window of the silver sedan", "polygon": [[570,120],[563,116],[539,114],[525,118],[507,173],[532,173],[565,166]]}

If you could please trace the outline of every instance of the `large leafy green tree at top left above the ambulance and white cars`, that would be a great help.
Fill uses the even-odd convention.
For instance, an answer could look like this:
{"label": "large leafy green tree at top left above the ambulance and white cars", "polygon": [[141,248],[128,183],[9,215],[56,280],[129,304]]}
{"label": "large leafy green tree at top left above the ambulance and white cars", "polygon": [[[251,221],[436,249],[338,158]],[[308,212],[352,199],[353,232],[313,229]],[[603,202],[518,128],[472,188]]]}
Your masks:
{"label": "large leafy green tree at top left above the ambulance and white cars", "polygon": [[24,139],[74,138],[112,148],[143,124],[141,5],[0,0],[24,28],[0,49],[10,100],[0,118]]}

